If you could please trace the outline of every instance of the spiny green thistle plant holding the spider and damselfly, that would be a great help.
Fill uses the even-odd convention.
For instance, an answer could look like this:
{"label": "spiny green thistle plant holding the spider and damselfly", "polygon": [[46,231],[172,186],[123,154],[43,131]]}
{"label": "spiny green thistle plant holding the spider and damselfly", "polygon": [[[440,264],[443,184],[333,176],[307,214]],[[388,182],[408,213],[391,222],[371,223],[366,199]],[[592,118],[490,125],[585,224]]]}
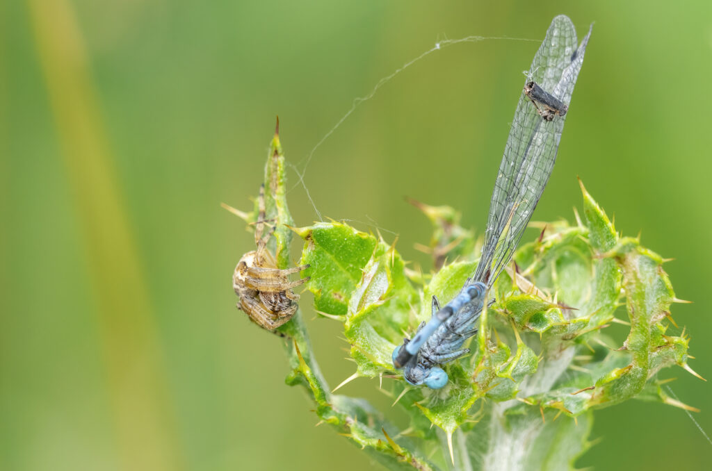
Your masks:
{"label": "spiny green thistle plant holding the spider and damselfly", "polygon": [[[535,240],[520,245],[493,286],[471,354],[445,366],[447,385],[412,386],[394,370],[403,337],[431,317],[431,298],[454,297],[475,271],[481,240],[459,226],[449,206],[416,206],[429,218],[433,271],[410,270],[380,235],[343,222],[295,226],[285,191],[285,159],[276,133],[264,176],[264,217],[275,226],[267,250],[290,268],[290,240],[303,240],[301,272],[321,317],[343,324],[355,371],[333,390],[320,374],[299,310],[273,330],[282,337],[290,372],[320,423],[389,469],[570,470],[588,441],[593,411],[629,399],[696,409],[666,395],[664,369],[688,365],[689,337],[675,335],[676,298],[665,259],[640,238],[617,233],[581,182],[582,212],[572,221],[533,223]],[[234,211],[253,227],[260,212]],[[300,308],[305,309],[305,297]],[[619,324],[614,327],[614,324]],[[672,327],[672,328],[671,328]],[[617,342],[613,329],[627,329]],[[269,342],[267,336],[265,342]],[[389,421],[362,398],[336,394],[368,378],[409,417]]]}

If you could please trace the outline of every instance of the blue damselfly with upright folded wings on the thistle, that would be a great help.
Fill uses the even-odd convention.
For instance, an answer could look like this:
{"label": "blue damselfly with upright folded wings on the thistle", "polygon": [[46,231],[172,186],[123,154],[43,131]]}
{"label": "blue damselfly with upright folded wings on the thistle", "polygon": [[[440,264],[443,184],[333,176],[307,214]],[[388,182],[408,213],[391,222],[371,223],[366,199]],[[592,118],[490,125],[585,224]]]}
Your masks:
{"label": "blue damselfly with upright folded wings on the thistle", "polygon": [[[514,114],[477,268],[459,295],[444,307],[433,297],[430,321],[420,324],[414,338],[404,339],[393,351],[393,364],[403,369],[409,383],[442,388],[448,376],[440,366],[469,352],[463,345],[477,332],[475,323],[489,288],[512,259],[554,167],[590,36],[591,29],[577,48],[576,31],[567,16],[557,16],[549,26]],[[535,84],[527,92],[530,83]],[[540,112],[539,104],[545,105],[545,112]]]}

